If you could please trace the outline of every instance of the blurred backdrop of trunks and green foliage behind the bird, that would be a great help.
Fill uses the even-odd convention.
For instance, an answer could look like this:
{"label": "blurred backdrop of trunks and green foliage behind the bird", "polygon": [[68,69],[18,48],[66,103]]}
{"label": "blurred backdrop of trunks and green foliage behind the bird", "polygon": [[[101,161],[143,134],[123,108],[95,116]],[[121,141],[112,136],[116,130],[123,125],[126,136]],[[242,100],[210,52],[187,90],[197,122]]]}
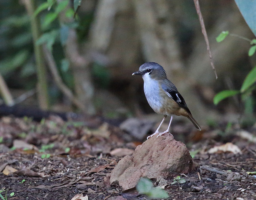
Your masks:
{"label": "blurred backdrop of trunks and green foliage behind the bird", "polygon": [[[33,16],[28,11],[32,3]],[[35,44],[42,48],[47,70],[47,109],[106,117],[151,113],[142,80],[131,74],[142,63],[155,61],[166,69],[200,123],[223,115],[237,121],[244,110],[239,97],[213,104],[216,93],[240,90],[256,63],[255,55],[248,56],[248,42],[231,36],[222,43],[215,40],[226,30],[255,37],[233,0],[200,2],[217,80],[192,1],[82,0],[76,14],[69,0],[9,0],[0,6],[0,74],[14,98],[37,87],[30,21],[37,17],[40,37]],[[40,89],[36,91],[21,104],[40,107]],[[254,91],[251,94],[254,115]]]}

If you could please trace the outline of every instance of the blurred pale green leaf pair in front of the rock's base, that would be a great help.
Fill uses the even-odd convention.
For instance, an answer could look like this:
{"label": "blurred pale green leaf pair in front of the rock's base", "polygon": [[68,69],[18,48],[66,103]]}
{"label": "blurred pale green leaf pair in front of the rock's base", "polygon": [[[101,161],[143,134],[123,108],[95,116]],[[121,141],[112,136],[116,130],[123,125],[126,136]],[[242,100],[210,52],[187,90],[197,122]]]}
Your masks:
{"label": "blurred pale green leaf pair in front of the rock's base", "polygon": [[140,178],[136,189],[140,194],[147,195],[149,199],[165,199],[168,194],[162,188],[153,188],[153,183],[148,178]]}

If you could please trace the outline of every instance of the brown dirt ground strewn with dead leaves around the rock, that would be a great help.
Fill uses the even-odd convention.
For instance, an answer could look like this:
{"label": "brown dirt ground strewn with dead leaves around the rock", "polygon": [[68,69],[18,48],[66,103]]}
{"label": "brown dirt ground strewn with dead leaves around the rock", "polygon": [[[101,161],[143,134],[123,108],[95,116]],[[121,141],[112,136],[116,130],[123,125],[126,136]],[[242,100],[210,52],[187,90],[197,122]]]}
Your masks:
{"label": "brown dirt ground strewn with dead leaves around the rock", "polygon": [[[185,183],[172,184],[173,179],[167,180],[163,187],[168,199],[256,199],[255,130],[241,132],[231,127],[225,132],[207,127],[203,133],[193,131],[183,133],[187,135],[184,142],[201,168],[180,174]],[[125,142],[120,134],[118,128],[108,124],[92,130],[58,117],[40,123],[28,118],[2,117],[0,188],[7,190],[8,200],[71,200],[77,194],[88,196],[89,200],[147,199],[135,189],[123,191],[118,185],[109,184],[117,162],[131,155],[140,144]],[[173,135],[175,139],[180,137],[175,132]],[[234,147],[227,152],[208,151],[227,142],[241,152]],[[161,185],[156,180],[153,183]]]}

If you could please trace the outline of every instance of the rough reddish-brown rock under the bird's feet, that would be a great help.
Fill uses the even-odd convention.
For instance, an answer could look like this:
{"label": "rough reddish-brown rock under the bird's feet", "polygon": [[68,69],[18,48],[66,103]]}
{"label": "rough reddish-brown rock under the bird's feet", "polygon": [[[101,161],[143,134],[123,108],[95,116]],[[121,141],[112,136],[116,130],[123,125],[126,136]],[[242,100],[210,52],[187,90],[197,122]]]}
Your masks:
{"label": "rough reddish-brown rock under the bird's feet", "polygon": [[168,179],[195,168],[185,144],[168,134],[156,135],[139,145],[132,156],[121,159],[111,172],[110,183],[118,181],[124,190],[137,185],[140,177]]}

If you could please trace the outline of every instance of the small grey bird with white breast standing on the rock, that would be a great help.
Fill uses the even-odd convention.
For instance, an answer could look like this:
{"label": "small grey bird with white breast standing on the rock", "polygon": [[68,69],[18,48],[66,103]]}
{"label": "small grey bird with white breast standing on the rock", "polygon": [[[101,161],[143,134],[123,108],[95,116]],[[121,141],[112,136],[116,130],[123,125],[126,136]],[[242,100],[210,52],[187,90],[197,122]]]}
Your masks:
{"label": "small grey bird with white breast standing on the rock", "polygon": [[[156,132],[148,136],[147,140],[155,134],[161,136],[169,133],[173,115],[188,117],[195,127],[201,131],[199,124],[188,109],[185,100],[175,85],[167,79],[166,72],[161,65],[155,62],[146,62],[140,66],[139,71],[134,72],[132,75],[142,76],[144,80],[144,93],[148,104],[156,113],[164,115],[164,119],[156,129]],[[166,131],[159,132],[167,116],[171,116],[169,126]]]}

